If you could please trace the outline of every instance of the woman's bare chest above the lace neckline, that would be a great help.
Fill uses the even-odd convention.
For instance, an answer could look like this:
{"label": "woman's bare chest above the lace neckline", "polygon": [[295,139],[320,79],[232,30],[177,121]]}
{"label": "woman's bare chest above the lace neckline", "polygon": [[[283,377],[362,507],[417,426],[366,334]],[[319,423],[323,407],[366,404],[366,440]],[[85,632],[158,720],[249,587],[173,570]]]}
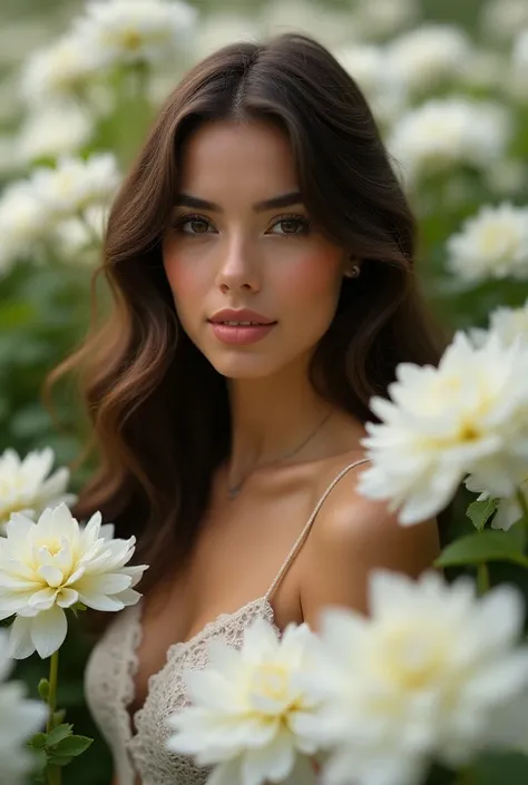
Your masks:
{"label": "woman's bare chest above the lace neckline", "polygon": [[[272,510],[270,502],[248,497],[211,507],[188,567],[144,598],[131,712],[143,706],[148,680],[166,665],[170,647],[193,641],[219,616],[236,614],[266,595],[304,528],[309,508],[309,500],[303,502],[295,492],[275,499]],[[301,569],[299,558],[272,598],[280,629],[302,621]]]}

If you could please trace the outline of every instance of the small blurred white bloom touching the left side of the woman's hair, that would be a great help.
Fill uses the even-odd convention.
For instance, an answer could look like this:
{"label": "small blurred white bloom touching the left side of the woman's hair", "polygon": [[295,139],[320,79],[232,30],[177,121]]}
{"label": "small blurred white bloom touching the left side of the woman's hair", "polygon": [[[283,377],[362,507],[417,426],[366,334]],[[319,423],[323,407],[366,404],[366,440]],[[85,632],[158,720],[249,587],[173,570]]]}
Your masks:
{"label": "small blurred white bloom touching the left side of the woman's hair", "polygon": [[85,210],[84,218],[63,220],[55,239],[60,258],[72,266],[91,266],[100,255],[108,210],[96,205]]}

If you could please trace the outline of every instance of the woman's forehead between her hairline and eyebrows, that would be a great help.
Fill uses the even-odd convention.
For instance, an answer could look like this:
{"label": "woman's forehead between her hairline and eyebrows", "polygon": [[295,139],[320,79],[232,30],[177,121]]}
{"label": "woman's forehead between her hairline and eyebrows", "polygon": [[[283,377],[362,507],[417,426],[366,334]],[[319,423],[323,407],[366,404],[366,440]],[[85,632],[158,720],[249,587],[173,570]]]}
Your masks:
{"label": "woman's forehead between her hairline and eyebrows", "polygon": [[285,131],[271,122],[211,121],[184,144],[180,189],[226,204],[296,190],[296,165]]}

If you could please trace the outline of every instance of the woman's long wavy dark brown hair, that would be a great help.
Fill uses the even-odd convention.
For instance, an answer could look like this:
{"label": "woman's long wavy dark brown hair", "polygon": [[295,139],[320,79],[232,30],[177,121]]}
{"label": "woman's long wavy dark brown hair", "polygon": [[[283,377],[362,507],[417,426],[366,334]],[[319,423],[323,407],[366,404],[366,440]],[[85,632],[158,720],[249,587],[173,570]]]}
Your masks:
{"label": "woman's long wavy dark brown hair", "polygon": [[[226,380],[179,324],[162,259],[178,192],[180,150],[202,124],[268,121],[289,136],[309,214],[362,259],[343,279],[335,317],[312,360],[329,402],[374,421],[398,363],[437,364],[446,345],[414,274],[415,224],[369,106],[316,41],[282,35],[226,46],[196,65],[162,108],[113,204],[100,267],[111,295],[102,325],[56,367],[74,374],[88,414],[81,461],[97,468],[74,514],[100,510],[116,534],[138,539],[148,591],[188,559],[212,478],[229,452]],[[226,183],[228,187],[228,183]]]}

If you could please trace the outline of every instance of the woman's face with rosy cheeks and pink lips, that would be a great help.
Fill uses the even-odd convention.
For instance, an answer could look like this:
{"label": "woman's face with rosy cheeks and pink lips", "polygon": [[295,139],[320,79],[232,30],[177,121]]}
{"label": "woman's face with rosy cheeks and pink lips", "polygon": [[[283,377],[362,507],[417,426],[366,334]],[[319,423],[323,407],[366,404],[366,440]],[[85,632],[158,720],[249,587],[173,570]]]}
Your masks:
{"label": "woman's face with rosy cheeks and pink lips", "polygon": [[307,366],[334,316],[345,255],[311,225],[286,135],[264,122],[206,124],[183,149],[179,181],[163,258],[190,340],[229,379]]}

